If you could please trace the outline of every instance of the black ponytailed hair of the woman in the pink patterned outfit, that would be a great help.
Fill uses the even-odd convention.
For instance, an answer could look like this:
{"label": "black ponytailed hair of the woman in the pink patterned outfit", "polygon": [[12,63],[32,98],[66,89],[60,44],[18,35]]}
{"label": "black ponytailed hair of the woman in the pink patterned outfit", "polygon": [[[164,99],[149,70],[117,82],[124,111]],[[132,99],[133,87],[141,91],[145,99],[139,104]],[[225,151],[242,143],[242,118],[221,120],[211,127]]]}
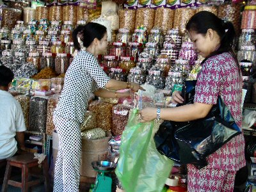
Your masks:
{"label": "black ponytailed hair of the woman in the pink patterned outfit", "polygon": [[[222,52],[230,52],[236,60],[236,55],[232,50],[234,38],[236,37],[236,31],[232,22],[225,22],[214,15],[214,13],[203,11],[198,12],[193,15],[193,17],[191,17],[191,19],[188,21],[188,24],[186,25],[186,29],[188,31],[195,31],[196,33],[202,35],[205,35],[208,29],[216,31],[220,36],[220,47],[216,51],[212,52],[207,58],[216,54],[221,54]],[[207,58],[205,58],[205,60]]]}

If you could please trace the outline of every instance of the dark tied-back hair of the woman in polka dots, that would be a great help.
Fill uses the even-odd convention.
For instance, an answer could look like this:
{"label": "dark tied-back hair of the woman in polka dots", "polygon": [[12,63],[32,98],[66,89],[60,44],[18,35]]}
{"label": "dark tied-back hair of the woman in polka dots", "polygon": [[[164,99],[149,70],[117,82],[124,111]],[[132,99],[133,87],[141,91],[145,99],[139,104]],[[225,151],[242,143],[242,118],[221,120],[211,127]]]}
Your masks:
{"label": "dark tied-back hair of the woman in polka dots", "polygon": [[81,50],[77,37],[81,39],[84,47],[89,47],[95,38],[101,40],[105,33],[107,33],[107,28],[95,22],[88,22],[85,26],[77,26],[72,31],[74,47],[78,51]]}

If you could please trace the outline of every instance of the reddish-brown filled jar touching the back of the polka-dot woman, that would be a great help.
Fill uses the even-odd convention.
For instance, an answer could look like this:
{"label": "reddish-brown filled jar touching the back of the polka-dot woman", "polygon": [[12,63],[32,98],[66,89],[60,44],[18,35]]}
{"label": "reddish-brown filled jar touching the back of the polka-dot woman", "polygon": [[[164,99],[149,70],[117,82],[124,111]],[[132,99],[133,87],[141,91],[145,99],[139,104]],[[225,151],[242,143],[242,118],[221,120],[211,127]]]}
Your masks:
{"label": "reddish-brown filled jar touching the back of the polka-dot woman", "polygon": [[66,53],[57,53],[55,58],[55,72],[56,74],[65,74],[69,67],[69,61]]}

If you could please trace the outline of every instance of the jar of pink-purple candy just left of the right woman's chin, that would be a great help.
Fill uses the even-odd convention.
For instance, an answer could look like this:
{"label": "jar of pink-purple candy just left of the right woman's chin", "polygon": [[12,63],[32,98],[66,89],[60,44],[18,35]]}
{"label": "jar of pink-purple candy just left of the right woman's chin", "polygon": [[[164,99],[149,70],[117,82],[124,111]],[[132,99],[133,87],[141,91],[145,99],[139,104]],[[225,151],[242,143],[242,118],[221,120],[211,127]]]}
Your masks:
{"label": "jar of pink-purple candy just left of the right woman's chin", "polygon": [[194,49],[193,43],[192,42],[184,42],[184,44],[182,44],[180,52],[179,52],[179,59],[188,60],[189,65],[194,65],[196,58],[197,58],[197,53]]}

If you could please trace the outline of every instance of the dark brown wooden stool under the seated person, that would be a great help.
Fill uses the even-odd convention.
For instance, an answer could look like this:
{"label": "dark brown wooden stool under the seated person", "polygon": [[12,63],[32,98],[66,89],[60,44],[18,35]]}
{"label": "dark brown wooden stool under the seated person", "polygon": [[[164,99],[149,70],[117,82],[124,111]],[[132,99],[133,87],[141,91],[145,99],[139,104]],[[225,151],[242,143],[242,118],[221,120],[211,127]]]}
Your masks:
{"label": "dark brown wooden stool under the seated person", "polygon": [[[22,154],[20,156],[10,157],[7,160],[4,182],[2,187],[2,192],[6,192],[8,185],[15,186],[17,188],[21,188],[22,192],[27,192],[31,186],[38,185],[44,181],[45,191],[49,191],[49,175],[48,175],[48,163],[47,157],[45,157],[42,162],[44,176],[41,175],[32,175],[33,177],[38,177],[39,179],[29,181],[29,168],[38,166],[38,159],[34,159],[34,154]],[[22,180],[21,182],[17,182],[15,180],[10,180],[12,166],[21,168],[22,171]]]}

